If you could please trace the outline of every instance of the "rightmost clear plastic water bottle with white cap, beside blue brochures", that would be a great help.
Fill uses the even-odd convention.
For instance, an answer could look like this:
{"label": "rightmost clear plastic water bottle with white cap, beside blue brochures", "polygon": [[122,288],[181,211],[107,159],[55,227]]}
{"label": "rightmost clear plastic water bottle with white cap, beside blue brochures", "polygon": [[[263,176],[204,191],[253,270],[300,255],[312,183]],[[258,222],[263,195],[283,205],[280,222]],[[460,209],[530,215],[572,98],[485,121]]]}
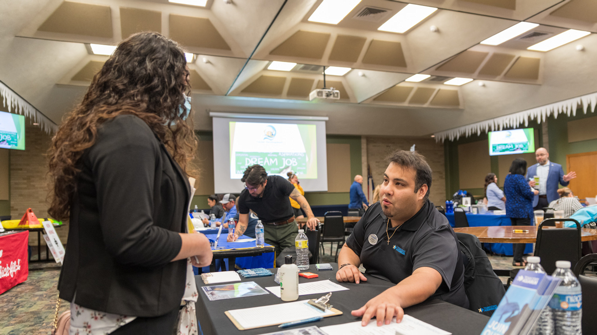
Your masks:
{"label": "rightmost clear plastic water bottle with white cap, beside blue brochures", "polygon": [[553,312],[555,334],[582,334],[583,294],[580,283],[570,271],[568,260],[558,260],[556,268],[553,277],[562,278],[562,282],[549,302]]}

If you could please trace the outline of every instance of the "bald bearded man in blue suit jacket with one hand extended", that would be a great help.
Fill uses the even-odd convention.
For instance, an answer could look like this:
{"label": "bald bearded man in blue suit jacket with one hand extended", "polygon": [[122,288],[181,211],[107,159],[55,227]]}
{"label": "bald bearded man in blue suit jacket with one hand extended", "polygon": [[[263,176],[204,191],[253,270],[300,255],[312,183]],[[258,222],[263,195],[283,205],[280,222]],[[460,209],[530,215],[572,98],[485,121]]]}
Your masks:
{"label": "bald bearded man in blue suit jacket with one hand extended", "polygon": [[[570,171],[565,175],[561,165],[549,162],[549,153],[546,148],[538,148],[535,151],[535,158],[537,164],[528,168],[527,180],[533,176],[539,176],[539,194],[533,200],[533,207],[538,210],[549,206],[550,202],[559,198],[558,184],[568,186],[570,179],[576,178],[576,172]],[[530,181],[528,184],[533,187],[535,182]]]}

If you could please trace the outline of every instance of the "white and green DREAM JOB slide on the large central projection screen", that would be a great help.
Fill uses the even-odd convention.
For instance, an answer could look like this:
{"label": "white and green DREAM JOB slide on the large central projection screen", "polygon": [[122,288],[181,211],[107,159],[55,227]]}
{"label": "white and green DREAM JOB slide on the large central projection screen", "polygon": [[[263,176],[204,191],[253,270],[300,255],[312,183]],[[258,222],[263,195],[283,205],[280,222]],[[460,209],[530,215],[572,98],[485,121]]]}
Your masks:
{"label": "white and green DREAM JOB slide on the large central projection screen", "polygon": [[259,164],[270,175],[317,178],[316,126],[294,123],[230,122],[230,178],[241,179]]}

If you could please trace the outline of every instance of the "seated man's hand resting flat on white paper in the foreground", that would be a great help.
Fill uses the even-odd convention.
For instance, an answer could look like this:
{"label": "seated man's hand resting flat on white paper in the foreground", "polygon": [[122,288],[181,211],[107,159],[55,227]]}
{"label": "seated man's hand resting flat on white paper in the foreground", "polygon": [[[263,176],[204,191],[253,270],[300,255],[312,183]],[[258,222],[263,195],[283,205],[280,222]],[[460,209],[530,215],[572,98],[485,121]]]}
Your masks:
{"label": "seated man's hand resting flat on white paper in the foreground", "polygon": [[[346,267],[346,266],[345,266]],[[350,312],[353,317],[362,317],[361,325],[365,326],[371,318],[376,317],[377,325],[390,324],[393,317],[396,322],[401,322],[404,310],[400,306],[400,299],[393,293],[395,287],[383,291],[355,311]]]}

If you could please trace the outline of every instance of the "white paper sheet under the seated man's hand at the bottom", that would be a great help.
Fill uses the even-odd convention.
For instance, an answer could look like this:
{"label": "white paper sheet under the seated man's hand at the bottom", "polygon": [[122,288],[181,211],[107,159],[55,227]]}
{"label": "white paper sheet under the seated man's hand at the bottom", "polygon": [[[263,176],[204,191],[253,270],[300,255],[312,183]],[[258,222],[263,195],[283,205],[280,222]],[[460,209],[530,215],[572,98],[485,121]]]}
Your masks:
{"label": "white paper sheet under the seated man's hand at the bottom", "polygon": [[349,322],[346,324],[328,325],[321,327],[328,335],[451,335],[452,333],[441,330],[438,327],[428,324],[405,314],[400,323],[396,318],[390,324],[377,326],[376,320],[371,320],[363,327],[361,321]]}

